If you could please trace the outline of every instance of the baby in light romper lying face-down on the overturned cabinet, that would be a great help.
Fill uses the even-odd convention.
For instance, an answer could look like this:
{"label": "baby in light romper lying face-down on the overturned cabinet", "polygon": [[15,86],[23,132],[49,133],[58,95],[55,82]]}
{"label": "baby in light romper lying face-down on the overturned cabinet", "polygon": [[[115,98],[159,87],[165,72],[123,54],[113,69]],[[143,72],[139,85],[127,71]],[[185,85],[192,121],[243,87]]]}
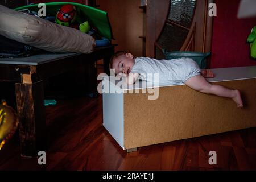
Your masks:
{"label": "baby in light romper lying face-down on the overturned cabinet", "polygon": [[238,90],[210,84],[205,78],[214,77],[212,71],[210,69],[201,70],[197,63],[189,58],[157,60],[149,57],[134,57],[131,53],[118,51],[112,56],[109,68],[114,69],[117,75],[123,73],[127,77],[127,84],[134,84],[137,78],[152,81],[147,74],[158,73],[159,83],[184,83],[202,93],[232,98],[237,107],[243,107],[241,94]]}

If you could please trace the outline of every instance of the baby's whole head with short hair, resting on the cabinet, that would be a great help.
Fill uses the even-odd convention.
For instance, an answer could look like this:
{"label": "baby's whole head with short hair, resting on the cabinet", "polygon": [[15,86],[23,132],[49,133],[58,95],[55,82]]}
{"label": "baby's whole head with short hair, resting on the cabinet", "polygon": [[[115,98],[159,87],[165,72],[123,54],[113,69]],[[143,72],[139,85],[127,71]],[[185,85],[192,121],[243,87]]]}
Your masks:
{"label": "baby's whole head with short hair, resting on the cabinet", "polygon": [[125,51],[117,51],[110,59],[109,69],[115,69],[115,74],[129,74],[135,63],[134,56]]}

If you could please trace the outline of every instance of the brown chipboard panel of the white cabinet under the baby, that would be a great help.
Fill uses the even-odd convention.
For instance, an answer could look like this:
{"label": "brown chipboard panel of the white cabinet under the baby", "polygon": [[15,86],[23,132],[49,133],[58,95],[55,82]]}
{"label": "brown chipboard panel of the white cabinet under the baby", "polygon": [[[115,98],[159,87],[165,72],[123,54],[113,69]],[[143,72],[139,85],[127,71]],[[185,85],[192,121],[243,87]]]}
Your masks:
{"label": "brown chipboard panel of the white cabinet under the baby", "polygon": [[135,148],[256,126],[256,79],[213,84],[241,91],[244,107],[186,85],[159,88],[159,98],[123,94],[124,148]]}

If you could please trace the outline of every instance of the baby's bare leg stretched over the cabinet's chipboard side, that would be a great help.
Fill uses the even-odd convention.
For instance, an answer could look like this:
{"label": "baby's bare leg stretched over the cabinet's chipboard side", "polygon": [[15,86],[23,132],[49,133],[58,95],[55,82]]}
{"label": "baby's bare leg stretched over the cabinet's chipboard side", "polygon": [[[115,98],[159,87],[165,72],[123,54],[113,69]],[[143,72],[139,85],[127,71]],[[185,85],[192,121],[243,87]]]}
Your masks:
{"label": "baby's bare leg stretched over the cabinet's chipboard side", "polygon": [[199,92],[232,98],[236,102],[237,107],[243,107],[242,98],[238,90],[231,90],[221,85],[212,85],[201,75],[189,78],[185,81],[185,85]]}

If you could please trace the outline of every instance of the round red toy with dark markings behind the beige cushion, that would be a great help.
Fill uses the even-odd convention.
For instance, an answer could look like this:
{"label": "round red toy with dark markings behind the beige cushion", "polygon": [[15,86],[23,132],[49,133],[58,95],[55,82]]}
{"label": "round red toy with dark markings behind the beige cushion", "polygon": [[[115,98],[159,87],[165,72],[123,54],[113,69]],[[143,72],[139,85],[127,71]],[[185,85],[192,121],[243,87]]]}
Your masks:
{"label": "round red toy with dark markings behind the beige cushion", "polygon": [[56,15],[56,23],[71,27],[76,20],[76,7],[70,4],[61,6]]}

